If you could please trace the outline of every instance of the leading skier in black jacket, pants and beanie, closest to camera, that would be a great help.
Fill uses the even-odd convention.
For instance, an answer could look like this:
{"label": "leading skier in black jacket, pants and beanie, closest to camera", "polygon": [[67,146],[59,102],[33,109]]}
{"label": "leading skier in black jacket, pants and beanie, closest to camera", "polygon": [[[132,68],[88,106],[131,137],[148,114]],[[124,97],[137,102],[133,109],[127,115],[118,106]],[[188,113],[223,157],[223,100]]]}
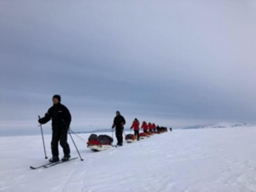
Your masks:
{"label": "leading skier in black jacket, pants and beanie, closest to camera", "polygon": [[60,103],[60,95],[54,95],[52,98],[53,106],[48,110],[45,116],[38,120],[40,124],[45,124],[52,119],[52,158],[50,162],[59,161],[58,142],[63,148],[64,157],[62,161],[66,161],[70,158],[70,148],[67,143],[67,131],[71,122],[71,115],[67,107]]}

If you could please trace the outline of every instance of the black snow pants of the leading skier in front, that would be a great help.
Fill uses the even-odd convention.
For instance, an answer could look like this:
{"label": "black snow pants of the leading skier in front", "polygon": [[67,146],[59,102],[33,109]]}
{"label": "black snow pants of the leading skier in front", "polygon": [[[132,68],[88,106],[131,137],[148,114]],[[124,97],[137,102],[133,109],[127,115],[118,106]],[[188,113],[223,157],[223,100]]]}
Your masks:
{"label": "black snow pants of the leading skier in front", "polygon": [[66,129],[53,129],[52,130],[52,156],[58,156],[58,142],[60,141],[60,145],[63,148],[64,155],[70,154],[70,148],[67,143],[67,130]]}

